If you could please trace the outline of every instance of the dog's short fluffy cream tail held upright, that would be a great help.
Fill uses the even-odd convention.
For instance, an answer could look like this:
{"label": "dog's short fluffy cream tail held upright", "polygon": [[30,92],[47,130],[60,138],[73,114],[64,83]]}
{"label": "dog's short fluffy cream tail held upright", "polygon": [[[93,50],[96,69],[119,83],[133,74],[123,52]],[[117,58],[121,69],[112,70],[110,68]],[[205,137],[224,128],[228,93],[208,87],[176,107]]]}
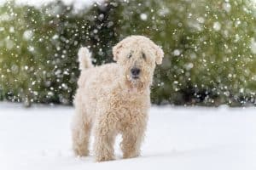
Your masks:
{"label": "dog's short fluffy cream tail held upright", "polygon": [[88,48],[79,49],[79,69],[81,71],[93,67],[90,57],[91,54]]}

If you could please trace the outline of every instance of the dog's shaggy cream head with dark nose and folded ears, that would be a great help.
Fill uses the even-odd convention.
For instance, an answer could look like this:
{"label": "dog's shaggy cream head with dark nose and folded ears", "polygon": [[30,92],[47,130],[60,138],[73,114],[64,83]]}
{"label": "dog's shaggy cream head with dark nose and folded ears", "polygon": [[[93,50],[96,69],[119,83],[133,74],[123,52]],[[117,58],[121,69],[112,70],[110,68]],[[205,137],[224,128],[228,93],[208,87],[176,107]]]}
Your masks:
{"label": "dog's shaggy cream head with dark nose and folded ears", "polygon": [[126,37],[113,47],[113,60],[122,67],[126,84],[145,88],[152,83],[155,65],[160,65],[163,50],[148,37]]}

